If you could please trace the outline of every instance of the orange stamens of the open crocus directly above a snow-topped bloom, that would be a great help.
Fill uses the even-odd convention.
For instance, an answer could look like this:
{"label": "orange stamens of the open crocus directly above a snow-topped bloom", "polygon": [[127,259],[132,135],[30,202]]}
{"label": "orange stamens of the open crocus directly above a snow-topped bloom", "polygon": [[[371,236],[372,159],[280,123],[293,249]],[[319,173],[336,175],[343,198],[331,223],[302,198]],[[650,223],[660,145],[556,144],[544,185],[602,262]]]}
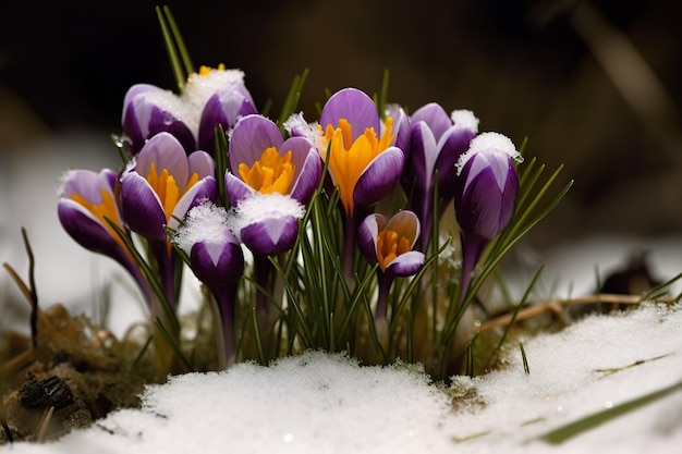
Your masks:
{"label": "orange stamens of the open crocus directly above a snow-topped bloom", "polygon": [[291,162],[291,150],[281,156],[277,148],[269,147],[263,151],[260,160],[254,162],[253,167],[241,163],[240,175],[244,183],[260,194],[287,194],[296,170],[295,164]]}

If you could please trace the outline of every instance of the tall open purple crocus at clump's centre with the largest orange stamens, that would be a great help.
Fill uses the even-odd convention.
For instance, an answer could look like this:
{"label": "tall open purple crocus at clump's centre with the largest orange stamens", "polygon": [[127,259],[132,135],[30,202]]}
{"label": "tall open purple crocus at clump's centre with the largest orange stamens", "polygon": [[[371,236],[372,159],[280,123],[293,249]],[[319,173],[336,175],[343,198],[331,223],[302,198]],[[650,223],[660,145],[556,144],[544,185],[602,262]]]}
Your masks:
{"label": "tall open purple crocus at clump's centre with the largest orange stamens", "polygon": [[393,191],[404,154],[394,146],[393,118],[382,123],[372,98],[356,88],[337,91],[325,103],[319,125],[326,139],[319,152],[329,159],[329,173],[349,218],[356,206],[369,207]]}

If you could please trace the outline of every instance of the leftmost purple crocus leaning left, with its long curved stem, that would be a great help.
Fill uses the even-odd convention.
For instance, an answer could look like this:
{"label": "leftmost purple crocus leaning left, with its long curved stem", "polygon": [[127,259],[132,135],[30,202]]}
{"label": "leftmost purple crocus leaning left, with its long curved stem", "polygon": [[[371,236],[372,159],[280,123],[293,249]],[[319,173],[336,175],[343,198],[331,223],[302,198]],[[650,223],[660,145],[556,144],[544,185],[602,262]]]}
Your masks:
{"label": "leftmost purple crocus leaning left, with its long curved stem", "polygon": [[137,282],[147,302],[149,287],[143,279],[127,246],[107,219],[122,232],[127,229],[121,221],[113,188],[117,173],[74,170],[64,175],[57,205],[59,220],[72,238],[86,249],[107,255],[125,268]]}

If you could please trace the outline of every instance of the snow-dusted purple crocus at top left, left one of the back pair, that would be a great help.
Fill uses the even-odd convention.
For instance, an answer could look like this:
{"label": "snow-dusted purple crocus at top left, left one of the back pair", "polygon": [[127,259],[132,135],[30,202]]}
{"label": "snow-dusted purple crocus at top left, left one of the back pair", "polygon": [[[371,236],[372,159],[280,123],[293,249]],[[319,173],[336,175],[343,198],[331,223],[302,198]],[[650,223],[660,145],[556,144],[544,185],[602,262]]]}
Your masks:
{"label": "snow-dusted purple crocus at top left, left one of the back pair", "polygon": [[186,123],[186,110],[182,99],[170,90],[149,84],[133,85],[123,99],[123,142],[137,155],[147,139],[167,132],[185,150],[195,150],[196,139]]}

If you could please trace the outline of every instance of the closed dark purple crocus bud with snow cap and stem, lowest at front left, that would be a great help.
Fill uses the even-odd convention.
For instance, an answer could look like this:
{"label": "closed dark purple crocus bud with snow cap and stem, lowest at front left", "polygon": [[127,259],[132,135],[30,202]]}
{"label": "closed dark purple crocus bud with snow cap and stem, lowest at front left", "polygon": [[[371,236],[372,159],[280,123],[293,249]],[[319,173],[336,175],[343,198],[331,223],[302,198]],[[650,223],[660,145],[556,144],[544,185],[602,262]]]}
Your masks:
{"label": "closed dark purple crocus bud with snow cap and stem, lowest at front left", "polygon": [[244,254],[228,228],[228,213],[211,203],[198,205],[175,231],[173,242],[190,257],[194,275],[206,285],[218,304],[222,321],[223,366],[234,363],[234,304],[244,273]]}

